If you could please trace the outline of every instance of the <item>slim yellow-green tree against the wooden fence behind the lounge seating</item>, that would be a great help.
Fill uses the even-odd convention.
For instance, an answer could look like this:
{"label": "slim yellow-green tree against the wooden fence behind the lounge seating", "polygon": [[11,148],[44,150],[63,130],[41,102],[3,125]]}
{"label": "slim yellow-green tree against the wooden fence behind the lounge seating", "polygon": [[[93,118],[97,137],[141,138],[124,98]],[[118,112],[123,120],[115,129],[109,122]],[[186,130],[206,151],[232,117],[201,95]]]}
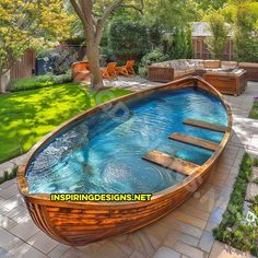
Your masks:
{"label": "slim yellow-green tree against the wooden fence behind the lounge seating", "polygon": [[206,44],[212,54],[212,58],[223,59],[223,52],[227,43],[228,27],[223,15],[215,12],[209,15],[211,36],[206,39]]}

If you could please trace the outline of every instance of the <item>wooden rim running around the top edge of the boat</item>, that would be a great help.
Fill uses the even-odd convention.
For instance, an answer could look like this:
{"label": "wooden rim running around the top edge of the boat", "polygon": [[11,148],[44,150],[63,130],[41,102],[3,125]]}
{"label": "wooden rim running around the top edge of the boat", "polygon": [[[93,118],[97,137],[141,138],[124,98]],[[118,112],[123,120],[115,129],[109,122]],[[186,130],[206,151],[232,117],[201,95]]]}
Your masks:
{"label": "wooden rim running around the top edge of the boat", "polygon": [[[187,77],[184,79],[179,79],[173,82],[168,82],[165,84],[162,84],[160,86],[156,87],[152,87],[152,89],[148,89],[148,90],[143,90],[140,92],[133,92],[130,94],[127,94],[125,96],[120,96],[117,98],[114,98],[112,101],[105,102],[101,105],[94,106],[79,115],[77,115],[75,117],[69,119],[68,121],[61,124],[60,126],[58,126],[56,129],[54,129],[52,131],[50,131],[49,133],[47,133],[45,137],[42,138],[42,140],[39,140],[36,144],[33,145],[33,148],[28,151],[28,153],[26,154],[26,157],[24,159],[24,162],[19,166],[17,169],[17,186],[19,186],[19,190],[22,194],[22,196],[26,199],[30,199],[30,201],[32,202],[37,202],[37,203],[47,203],[49,204],[50,200],[50,194],[30,194],[28,192],[28,184],[27,184],[27,179],[26,179],[26,173],[27,173],[27,168],[32,162],[32,160],[35,157],[35,155],[38,153],[38,151],[47,143],[49,142],[51,139],[54,139],[59,132],[61,132],[64,128],[67,128],[68,126],[70,126],[72,122],[79,121],[85,117],[87,117],[89,115],[92,115],[94,113],[96,113],[97,110],[104,108],[107,105],[110,104],[117,104],[118,102],[121,101],[129,101],[131,99],[133,96],[138,97],[141,96],[142,94],[148,94],[148,93],[152,93],[159,90],[179,90],[179,89],[185,89],[185,87],[190,87],[189,84],[187,83],[194,83],[194,86],[197,86],[196,82],[201,82],[202,84],[204,84],[206,86],[208,86],[209,90],[204,89],[204,92],[208,92],[209,94],[215,96],[216,98],[219,98],[222,104],[224,105],[225,109],[226,109],[226,114],[227,114],[227,126],[226,126],[226,131],[224,133],[224,137],[222,139],[222,141],[220,142],[218,149],[213,152],[213,154],[210,156],[210,159],[200,167],[198,167],[190,176],[187,176],[186,178],[184,178],[181,181],[178,181],[177,184],[165,188],[161,191],[154,192],[152,194],[152,198],[150,201],[130,201],[130,202],[94,202],[94,201],[52,201],[52,203],[55,203],[55,206],[57,207],[71,207],[71,204],[73,207],[80,207],[81,209],[83,209],[83,207],[86,209],[89,207],[94,207],[95,208],[101,208],[101,207],[109,207],[109,208],[125,208],[127,209],[128,207],[132,206],[148,206],[150,202],[152,201],[157,201],[159,199],[163,199],[165,198],[167,195],[184,188],[184,187],[188,187],[191,184],[195,184],[195,181],[198,179],[198,177],[200,177],[200,175],[202,175],[206,171],[209,169],[209,167],[211,167],[216,160],[219,159],[219,156],[222,154],[222,152],[224,151],[227,141],[230,140],[231,137],[231,132],[232,132],[232,125],[233,125],[233,116],[232,116],[232,110],[231,107],[228,105],[228,103],[226,102],[226,99],[223,97],[223,95],[216,90],[214,89],[210,83],[208,83],[207,81],[204,81],[202,78],[200,77]],[[184,84],[183,86],[177,86],[173,89],[173,84],[178,84],[181,83]],[[191,85],[192,86],[192,85]],[[108,90],[108,89],[107,89]],[[203,89],[202,89],[203,90]],[[198,187],[197,187],[198,189]],[[194,189],[192,194],[197,190]],[[77,192],[74,192],[77,194]],[[85,192],[86,194],[86,192]],[[148,192],[149,194],[149,192]]]}

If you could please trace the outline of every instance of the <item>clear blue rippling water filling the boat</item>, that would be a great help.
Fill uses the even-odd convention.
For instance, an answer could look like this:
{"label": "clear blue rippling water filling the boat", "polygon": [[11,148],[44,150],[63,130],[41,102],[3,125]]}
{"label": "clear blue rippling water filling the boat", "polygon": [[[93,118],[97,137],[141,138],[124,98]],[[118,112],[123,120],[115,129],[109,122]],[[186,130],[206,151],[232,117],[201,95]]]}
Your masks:
{"label": "clear blue rippling water filling the boat", "polygon": [[115,119],[110,112],[99,112],[45,145],[26,174],[30,192],[163,190],[185,177],[141,157],[159,150],[202,165],[212,152],[172,141],[168,136],[184,132],[220,142],[223,133],[185,126],[183,121],[194,118],[227,125],[223,104],[194,87],[150,94],[119,107],[113,110]]}

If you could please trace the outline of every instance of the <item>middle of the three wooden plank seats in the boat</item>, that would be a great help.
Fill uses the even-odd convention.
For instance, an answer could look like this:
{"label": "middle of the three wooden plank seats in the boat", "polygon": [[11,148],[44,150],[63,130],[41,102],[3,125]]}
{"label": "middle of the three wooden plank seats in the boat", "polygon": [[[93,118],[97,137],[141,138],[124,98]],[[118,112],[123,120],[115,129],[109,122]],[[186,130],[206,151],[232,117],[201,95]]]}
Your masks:
{"label": "middle of the three wooden plank seats in the boat", "polygon": [[219,148],[219,144],[213,141],[208,141],[201,138],[187,136],[184,133],[175,132],[169,136],[169,139],[174,141],[179,141],[189,145],[199,146],[208,151],[215,151]]}

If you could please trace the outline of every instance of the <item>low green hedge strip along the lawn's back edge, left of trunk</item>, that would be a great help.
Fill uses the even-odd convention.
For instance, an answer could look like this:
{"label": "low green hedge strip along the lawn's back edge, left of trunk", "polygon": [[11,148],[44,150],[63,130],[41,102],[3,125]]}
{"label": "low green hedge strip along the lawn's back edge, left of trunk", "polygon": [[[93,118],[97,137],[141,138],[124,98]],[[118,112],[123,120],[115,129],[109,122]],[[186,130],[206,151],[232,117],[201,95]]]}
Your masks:
{"label": "low green hedge strip along the lawn's back edge, left of trunk", "polygon": [[11,81],[8,85],[8,90],[10,92],[28,91],[39,87],[63,84],[71,81],[72,78],[70,71],[67,72],[66,74],[60,74],[60,75],[45,74],[45,75]]}

